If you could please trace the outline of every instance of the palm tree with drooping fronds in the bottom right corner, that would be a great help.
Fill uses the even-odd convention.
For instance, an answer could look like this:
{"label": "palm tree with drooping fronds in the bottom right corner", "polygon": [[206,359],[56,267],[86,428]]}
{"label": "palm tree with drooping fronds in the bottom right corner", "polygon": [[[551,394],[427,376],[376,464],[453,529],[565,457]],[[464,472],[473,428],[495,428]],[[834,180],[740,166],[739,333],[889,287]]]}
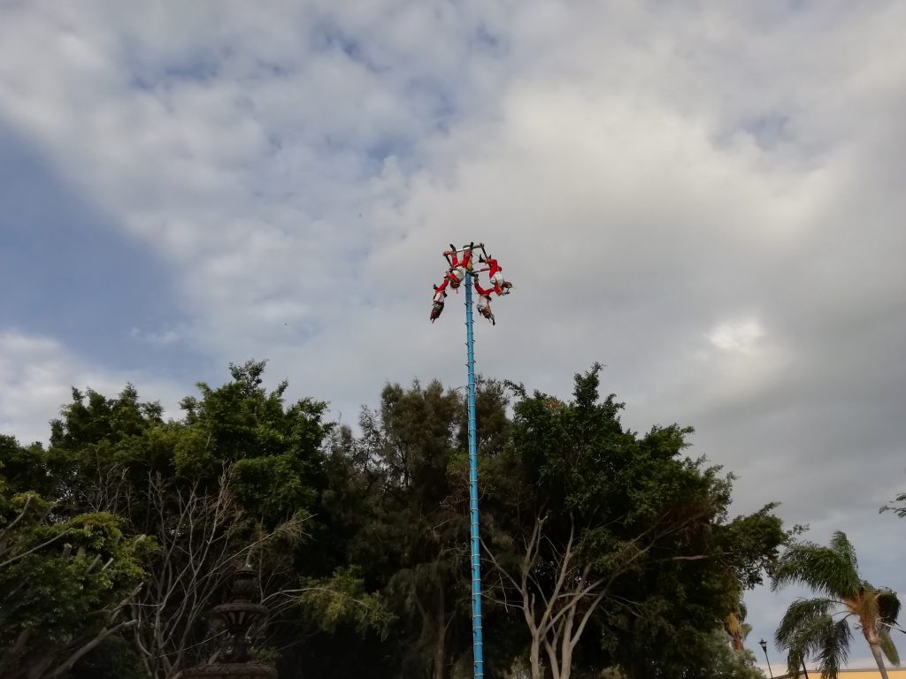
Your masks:
{"label": "palm tree with drooping fronds in the bottom right corner", "polygon": [[890,632],[900,612],[900,599],[890,589],[872,587],[860,577],[855,550],[843,532],[834,533],[829,547],[802,542],[788,548],[778,560],[772,589],[790,584],[807,585],[819,595],[797,598],[777,628],[777,645],[786,649],[791,674],[812,656],[825,677],[836,679],[849,655],[851,622],[872,649],[883,679],[888,679],[884,655],[900,665]]}

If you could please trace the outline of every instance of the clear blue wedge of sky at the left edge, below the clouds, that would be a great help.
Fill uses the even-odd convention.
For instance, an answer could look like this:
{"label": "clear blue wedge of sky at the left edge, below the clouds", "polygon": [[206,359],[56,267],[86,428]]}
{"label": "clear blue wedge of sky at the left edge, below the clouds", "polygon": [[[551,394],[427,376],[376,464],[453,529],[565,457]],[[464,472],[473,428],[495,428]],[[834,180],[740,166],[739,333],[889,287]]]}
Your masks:
{"label": "clear blue wedge of sky at the left edge, below the clouds", "polygon": [[[168,267],[118,233],[41,154],[0,123],[0,318],[3,326],[60,340],[111,368],[178,372],[198,357],[156,344],[179,322]],[[196,372],[198,368],[192,368]]]}

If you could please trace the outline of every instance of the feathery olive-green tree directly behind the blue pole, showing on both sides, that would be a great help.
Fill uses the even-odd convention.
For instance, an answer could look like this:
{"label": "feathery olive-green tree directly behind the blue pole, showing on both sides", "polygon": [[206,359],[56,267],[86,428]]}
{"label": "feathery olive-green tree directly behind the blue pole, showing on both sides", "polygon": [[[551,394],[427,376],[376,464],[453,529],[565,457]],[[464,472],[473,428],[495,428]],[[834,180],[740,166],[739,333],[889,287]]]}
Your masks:
{"label": "feathery olive-green tree directly behind the blue pole, showing on both sides", "polygon": [[[483,453],[502,447],[508,426],[503,387],[479,379]],[[361,432],[332,451],[331,466],[350,482],[332,491],[336,513],[328,516],[346,526],[349,559],[383,586],[396,616],[387,642],[398,649],[393,675],[442,679],[471,665],[464,395],[437,381],[387,385],[380,406],[363,410]],[[343,506],[357,509],[355,521],[336,506],[340,493]]]}

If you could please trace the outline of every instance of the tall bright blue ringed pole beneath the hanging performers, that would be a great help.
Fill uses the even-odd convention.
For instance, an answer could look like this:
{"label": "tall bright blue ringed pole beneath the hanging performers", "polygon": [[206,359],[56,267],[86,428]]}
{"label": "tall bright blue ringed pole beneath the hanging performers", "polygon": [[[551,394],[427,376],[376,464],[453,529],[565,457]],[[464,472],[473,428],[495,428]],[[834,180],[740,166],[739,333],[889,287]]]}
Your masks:
{"label": "tall bright blue ringed pole beneath the hanging performers", "polygon": [[466,355],[468,367],[468,499],[472,526],[472,648],[475,679],[483,679],[481,640],[481,552],[478,540],[478,443],[475,424],[475,337],[472,335],[472,277],[466,276]]}

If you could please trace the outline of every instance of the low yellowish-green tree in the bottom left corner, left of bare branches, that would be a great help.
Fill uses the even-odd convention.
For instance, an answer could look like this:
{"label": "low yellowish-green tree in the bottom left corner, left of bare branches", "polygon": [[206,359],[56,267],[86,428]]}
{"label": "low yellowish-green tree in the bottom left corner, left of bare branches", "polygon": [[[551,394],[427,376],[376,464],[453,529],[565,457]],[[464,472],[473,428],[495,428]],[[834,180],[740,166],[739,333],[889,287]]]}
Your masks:
{"label": "low yellowish-green tree in the bottom left corner, left of bare branches", "polygon": [[150,540],[127,537],[107,512],[67,518],[55,509],[0,475],[0,674],[8,679],[62,676],[136,624],[129,601]]}

